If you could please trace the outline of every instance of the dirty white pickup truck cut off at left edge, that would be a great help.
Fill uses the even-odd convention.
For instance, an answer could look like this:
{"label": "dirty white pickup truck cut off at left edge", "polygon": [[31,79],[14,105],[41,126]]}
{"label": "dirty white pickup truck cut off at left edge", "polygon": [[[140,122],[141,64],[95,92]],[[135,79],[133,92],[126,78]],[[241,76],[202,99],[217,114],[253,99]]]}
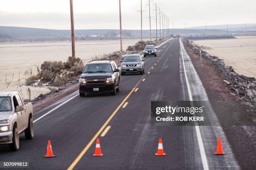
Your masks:
{"label": "dirty white pickup truck cut off at left edge", "polygon": [[18,92],[0,92],[0,144],[19,149],[19,134],[33,139],[33,106],[23,102]]}

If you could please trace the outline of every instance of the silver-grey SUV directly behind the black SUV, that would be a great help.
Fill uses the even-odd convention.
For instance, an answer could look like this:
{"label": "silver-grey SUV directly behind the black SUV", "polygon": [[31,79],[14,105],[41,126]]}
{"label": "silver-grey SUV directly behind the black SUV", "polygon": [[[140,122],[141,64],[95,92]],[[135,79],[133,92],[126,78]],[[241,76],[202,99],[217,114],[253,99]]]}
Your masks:
{"label": "silver-grey SUV directly behind the black SUV", "polygon": [[138,54],[129,54],[121,60],[121,75],[126,73],[139,72],[144,74],[144,60],[141,58],[141,55]]}

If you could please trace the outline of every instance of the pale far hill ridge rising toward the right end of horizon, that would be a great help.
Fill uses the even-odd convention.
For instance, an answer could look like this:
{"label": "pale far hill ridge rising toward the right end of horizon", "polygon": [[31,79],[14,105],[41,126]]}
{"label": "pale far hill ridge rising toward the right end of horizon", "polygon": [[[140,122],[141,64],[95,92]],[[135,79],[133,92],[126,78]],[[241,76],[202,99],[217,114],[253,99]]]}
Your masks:
{"label": "pale far hill ridge rising toward the right end of horizon", "polygon": [[[247,30],[256,30],[256,24],[246,24]],[[246,29],[245,24],[228,24],[228,30],[230,31],[244,31]],[[215,30],[227,30],[227,25],[206,25],[207,29]],[[205,26],[189,27],[187,29],[205,29]]]}

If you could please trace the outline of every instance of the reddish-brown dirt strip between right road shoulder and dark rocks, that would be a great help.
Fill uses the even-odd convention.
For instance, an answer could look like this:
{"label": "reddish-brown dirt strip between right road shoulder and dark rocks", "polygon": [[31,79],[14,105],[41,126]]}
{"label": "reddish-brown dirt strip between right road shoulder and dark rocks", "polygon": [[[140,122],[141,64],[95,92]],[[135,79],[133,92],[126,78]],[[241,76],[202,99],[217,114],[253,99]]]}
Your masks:
{"label": "reddish-brown dirt strip between right road shoulder and dark rocks", "polygon": [[[195,54],[195,50],[192,50],[188,45],[183,42],[184,47],[189,55],[192,63],[199,75],[205,90],[207,92],[208,98],[210,101],[225,101],[236,103],[238,98],[236,95],[233,95],[233,91],[228,85],[223,82],[223,76],[215,70],[208,60],[202,58]],[[223,117],[218,113],[218,109],[214,108],[217,117]],[[232,118],[233,115],[227,113],[225,118]],[[241,117],[245,124],[254,124],[253,115],[248,114],[246,110],[241,112]],[[228,138],[228,142],[231,145],[233,153],[238,160],[239,165],[242,170],[251,170],[256,167],[256,156],[254,151],[256,150],[256,128],[255,126],[225,126],[221,124],[223,131]],[[217,142],[217,140],[216,140]],[[225,150],[225,143],[223,144]]]}

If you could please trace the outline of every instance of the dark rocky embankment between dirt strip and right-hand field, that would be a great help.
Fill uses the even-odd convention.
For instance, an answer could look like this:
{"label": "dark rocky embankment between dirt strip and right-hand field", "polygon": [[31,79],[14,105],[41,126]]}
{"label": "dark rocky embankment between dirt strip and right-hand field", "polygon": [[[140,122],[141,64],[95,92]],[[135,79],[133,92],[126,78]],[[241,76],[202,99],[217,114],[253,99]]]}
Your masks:
{"label": "dark rocky embankment between dirt strip and right-hand field", "polygon": [[248,106],[248,112],[256,112],[256,79],[254,77],[246,77],[239,75],[232,66],[225,65],[224,61],[216,56],[212,56],[203,51],[197,45],[187,40],[187,45],[194,50],[194,53],[202,58],[207,59],[210,64],[223,77],[223,82],[230,87],[232,95],[237,97],[237,101]]}

